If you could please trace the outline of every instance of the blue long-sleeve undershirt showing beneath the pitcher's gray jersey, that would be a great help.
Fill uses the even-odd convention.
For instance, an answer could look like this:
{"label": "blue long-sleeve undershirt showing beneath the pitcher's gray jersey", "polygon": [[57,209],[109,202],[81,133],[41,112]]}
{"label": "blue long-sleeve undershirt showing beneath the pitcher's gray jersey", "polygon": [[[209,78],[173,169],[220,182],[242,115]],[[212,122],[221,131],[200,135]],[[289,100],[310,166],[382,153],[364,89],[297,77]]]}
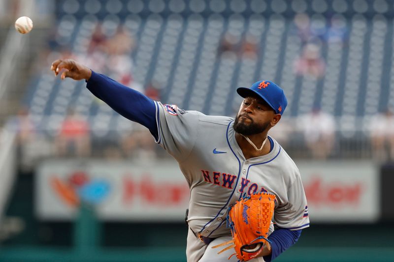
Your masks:
{"label": "blue long-sleeve undershirt showing beneath the pitcher's gray jersey", "polygon": [[[147,127],[151,134],[158,139],[156,106],[152,99],[94,71],[92,71],[92,76],[87,81],[86,87],[120,115]],[[271,142],[271,144],[273,143]],[[276,229],[268,236],[268,239],[272,242],[272,253],[269,256],[265,256],[264,260],[266,262],[274,260],[283,251],[296,243],[301,231]]]}

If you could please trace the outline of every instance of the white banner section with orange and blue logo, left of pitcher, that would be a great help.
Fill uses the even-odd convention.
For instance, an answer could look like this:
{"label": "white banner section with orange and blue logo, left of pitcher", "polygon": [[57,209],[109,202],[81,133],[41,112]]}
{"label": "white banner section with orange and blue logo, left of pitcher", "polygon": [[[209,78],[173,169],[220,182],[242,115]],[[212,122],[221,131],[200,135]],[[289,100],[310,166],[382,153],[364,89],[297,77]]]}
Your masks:
{"label": "white banner section with orange and blue logo, left of pitcher", "polygon": [[84,201],[103,220],[182,221],[189,187],[176,163],[47,161],[38,170],[36,213],[72,219]]}

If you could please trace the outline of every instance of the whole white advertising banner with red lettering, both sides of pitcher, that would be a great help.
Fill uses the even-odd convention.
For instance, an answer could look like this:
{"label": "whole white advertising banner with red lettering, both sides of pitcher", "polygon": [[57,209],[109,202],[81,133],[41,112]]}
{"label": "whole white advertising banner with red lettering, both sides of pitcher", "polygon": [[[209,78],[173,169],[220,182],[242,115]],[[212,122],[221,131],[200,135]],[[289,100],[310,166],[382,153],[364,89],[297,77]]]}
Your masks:
{"label": "whole white advertising banner with red lettering, both sides of pitcher", "polygon": [[[378,168],[369,162],[297,162],[311,223],[373,222],[379,217]],[[84,201],[100,219],[183,221],[189,187],[174,161],[44,162],[37,172],[36,213],[73,219]]]}

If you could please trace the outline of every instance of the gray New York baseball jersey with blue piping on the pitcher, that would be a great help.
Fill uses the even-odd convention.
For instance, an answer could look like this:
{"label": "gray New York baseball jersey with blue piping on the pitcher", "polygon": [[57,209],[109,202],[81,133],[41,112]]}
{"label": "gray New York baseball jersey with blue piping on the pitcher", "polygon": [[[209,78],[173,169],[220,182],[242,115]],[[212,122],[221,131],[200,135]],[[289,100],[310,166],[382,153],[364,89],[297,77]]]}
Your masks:
{"label": "gray New York baseball jersey with blue piping on the pitcher", "polygon": [[246,160],[235,140],[233,118],[155,103],[156,142],[176,159],[189,183],[188,223],[194,233],[213,238],[230,235],[226,228],[229,204],[262,191],[276,196],[273,220],[278,227],[309,226],[299,171],[275,140],[268,154]]}

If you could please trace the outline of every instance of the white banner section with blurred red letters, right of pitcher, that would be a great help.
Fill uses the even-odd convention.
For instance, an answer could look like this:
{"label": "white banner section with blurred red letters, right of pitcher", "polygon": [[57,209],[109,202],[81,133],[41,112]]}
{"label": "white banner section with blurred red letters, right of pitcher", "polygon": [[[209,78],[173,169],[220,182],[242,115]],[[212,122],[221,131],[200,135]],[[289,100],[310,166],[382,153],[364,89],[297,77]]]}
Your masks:
{"label": "white banner section with blurred red letters, right of pitcher", "polygon": [[378,167],[365,161],[297,162],[311,223],[374,222],[380,210]]}

